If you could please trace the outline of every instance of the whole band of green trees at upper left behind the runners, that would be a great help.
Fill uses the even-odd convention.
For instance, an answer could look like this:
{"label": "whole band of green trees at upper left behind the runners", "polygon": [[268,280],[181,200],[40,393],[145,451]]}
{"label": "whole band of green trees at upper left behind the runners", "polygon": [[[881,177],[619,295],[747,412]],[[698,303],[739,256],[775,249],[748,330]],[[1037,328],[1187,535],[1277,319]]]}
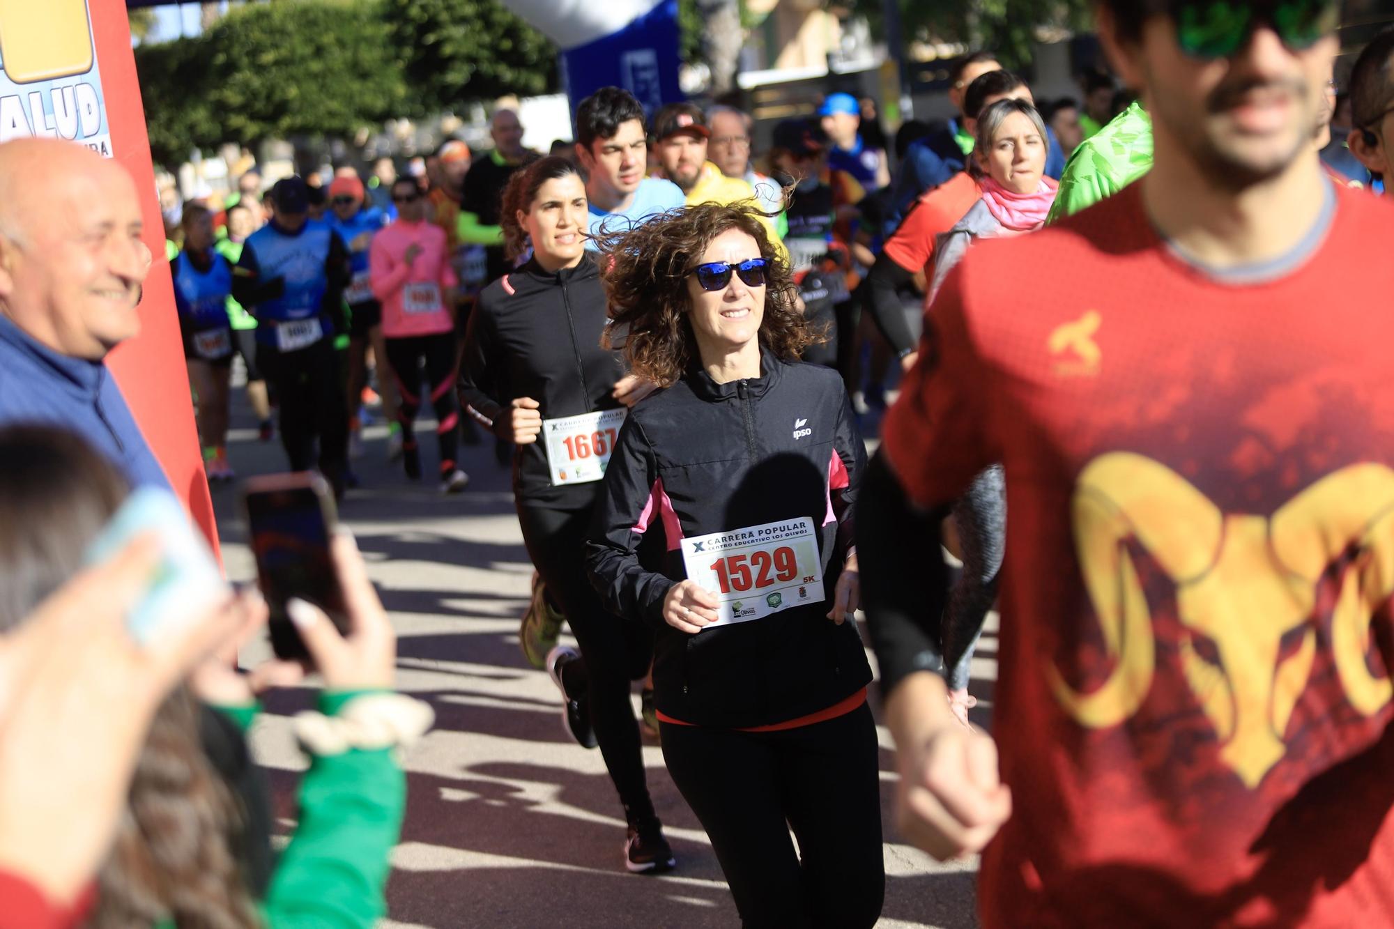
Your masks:
{"label": "whole band of green trees at upper left behind the runners", "polygon": [[556,53],[499,0],[301,0],[229,8],[198,36],[135,47],[155,160],[556,84]]}

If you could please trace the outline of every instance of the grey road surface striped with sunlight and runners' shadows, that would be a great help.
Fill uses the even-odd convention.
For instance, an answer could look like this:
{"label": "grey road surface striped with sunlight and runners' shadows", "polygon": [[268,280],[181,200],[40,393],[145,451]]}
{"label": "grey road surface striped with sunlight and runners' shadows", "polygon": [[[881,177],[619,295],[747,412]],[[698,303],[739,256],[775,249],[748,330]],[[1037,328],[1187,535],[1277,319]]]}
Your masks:
{"label": "grey road surface striped with sunlight and runners' shadows", "polygon": [[[279,441],[256,441],[241,391],[234,395],[233,467],[241,477],[283,470]],[[432,474],[434,430],[422,424],[418,437],[422,467]],[[388,464],[381,424],[369,427],[367,438],[365,458],[354,462],[362,490],[350,492],[340,519],[358,538],[397,629],[397,683],[436,713],[435,728],[406,756],[407,819],[392,856],[389,919],[382,925],[739,925],[711,845],[652,742],[644,749],[648,784],[679,866],[664,877],[625,872],[625,820],[601,755],[565,734],[555,686],[519,650],[531,565],[493,439],[463,446],[470,487],[441,497],[435,481],[408,484]],[[229,577],[254,577],[236,490],[215,487],[213,501]],[[974,661],[974,718],[984,724],[993,703],[994,635],[984,636]],[[243,664],[268,651],[259,643],[244,649]],[[637,713],[637,688],[634,703]],[[294,824],[297,771],[304,767],[289,717],[311,706],[312,690],[273,693],[252,731],[256,757],[270,770],[283,831]],[[976,861],[938,865],[898,841],[894,756],[884,727],[880,735],[887,831],[880,925],[976,926]]]}

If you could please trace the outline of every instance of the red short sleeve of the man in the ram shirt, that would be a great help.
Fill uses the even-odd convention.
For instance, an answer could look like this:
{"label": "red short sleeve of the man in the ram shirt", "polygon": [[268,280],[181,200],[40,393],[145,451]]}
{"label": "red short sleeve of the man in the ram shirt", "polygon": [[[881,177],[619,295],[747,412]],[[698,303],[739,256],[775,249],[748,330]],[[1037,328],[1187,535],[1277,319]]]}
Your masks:
{"label": "red short sleeve of the man in the ram shirt", "polygon": [[956,499],[973,476],[1001,460],[987,438],[988,370],[969,336],[965,266],[924,314],[920,357],[882,428],[887,459],[920,506]]}

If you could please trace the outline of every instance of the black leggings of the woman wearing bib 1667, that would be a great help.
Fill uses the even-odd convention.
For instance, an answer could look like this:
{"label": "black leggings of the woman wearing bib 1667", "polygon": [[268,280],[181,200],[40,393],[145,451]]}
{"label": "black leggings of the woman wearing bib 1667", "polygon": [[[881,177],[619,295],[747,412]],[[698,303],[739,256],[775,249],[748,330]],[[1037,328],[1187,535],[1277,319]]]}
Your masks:
{"label": "black leggings of the woman wearing bib 1667", "polygon": [[[599,487],[599,484],[597,484]],[[654,636],[638,624],[612,615],[591,587],[581,558],[591,508],[552,509],[519,501],[519,523],[533,566],[542,576],[581,646],[581,661],[567,665],[585,675],[591,696],[591,724],[599,742],[626,819],[637,823],[654,815],[654,802],[644,781],[644,756],[638,723],[630,703],[630,685],[648,674]]]}

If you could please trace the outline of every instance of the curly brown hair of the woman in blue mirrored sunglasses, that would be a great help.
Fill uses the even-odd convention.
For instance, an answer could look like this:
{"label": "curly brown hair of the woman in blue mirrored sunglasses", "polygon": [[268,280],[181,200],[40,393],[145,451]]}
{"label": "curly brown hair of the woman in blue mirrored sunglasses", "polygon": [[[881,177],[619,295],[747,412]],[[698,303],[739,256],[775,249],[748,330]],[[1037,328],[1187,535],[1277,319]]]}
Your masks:
{"label": "curly brown hair of the woman in blue mirrored sunglasses", "polygon": [[605,296],[615,325],[604,336],[627,329],[625,360],[630,370],[659,386],[672,386],[698,361],[697,342],[687,312],[691,301],[687,278],[717,236],[739,229],[756,240],[765,269],[765,312],[760,345],[783,361],[797,361],[810,345],[824,340],[799,308],[799,289],[789,262],[776,251],[756,206],[700,204],[599,240]]}

